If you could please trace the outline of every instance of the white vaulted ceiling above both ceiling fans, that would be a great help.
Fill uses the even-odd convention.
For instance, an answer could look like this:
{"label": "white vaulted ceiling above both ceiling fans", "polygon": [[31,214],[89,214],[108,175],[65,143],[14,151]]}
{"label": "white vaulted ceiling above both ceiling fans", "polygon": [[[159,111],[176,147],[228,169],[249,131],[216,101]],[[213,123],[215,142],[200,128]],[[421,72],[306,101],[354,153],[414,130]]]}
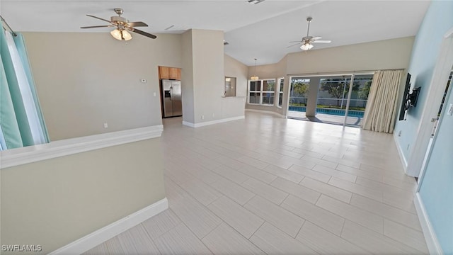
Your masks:
{"label": "white vaulted ceiling above both ceiling fans", "polygon": [[[300,51],[289,41],[306,35],[306,17],[312,16],[310,35],[332,40],[312,50],[415,35],[430,1],[75,1],[0,0],[0,14],[16,31],[103,32],[111,29],[91,14],[110,19],[113,8],[123,8],[130,21],[144,21],[148,33],[183,33],[190,28],[223,30],[229,42],[225,53],[252,66],[273,64],[289,52]],[[106,23],[105,23],[106,24]],[[173,28],[165,30],[173,25]],[[135,35],[141,36],[141,35]],[[150,39],[151,40],[151,39]],[[159,37],[156,39],[159,40]]]}

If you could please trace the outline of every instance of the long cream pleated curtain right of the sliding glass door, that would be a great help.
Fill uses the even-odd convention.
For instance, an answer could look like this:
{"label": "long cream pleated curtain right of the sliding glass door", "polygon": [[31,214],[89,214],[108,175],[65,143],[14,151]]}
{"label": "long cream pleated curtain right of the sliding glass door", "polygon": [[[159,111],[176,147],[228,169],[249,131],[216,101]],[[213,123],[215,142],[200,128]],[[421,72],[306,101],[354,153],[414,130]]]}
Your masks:
{"label": "long cream pleated curtain right of the sliding glass door", "polygon": [[403,70],[374,72],[367,108],[362,121],[364,130],[394,132],[396,103]]}

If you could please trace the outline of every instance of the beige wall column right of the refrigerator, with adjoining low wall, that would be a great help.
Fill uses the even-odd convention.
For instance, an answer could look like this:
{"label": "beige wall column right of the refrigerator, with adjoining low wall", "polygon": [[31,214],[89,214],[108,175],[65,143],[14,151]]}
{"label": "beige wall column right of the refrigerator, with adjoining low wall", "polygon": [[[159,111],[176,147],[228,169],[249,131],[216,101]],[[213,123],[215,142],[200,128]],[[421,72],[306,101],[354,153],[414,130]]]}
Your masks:
{"label": "beige wall column right of the refrigerator, with adjoining low wall", "polygon": [[[224,98],[224,76],[238,77],[242,83],[246,67],[231,57],[224,60],[224,33],[219,30],[188,30],[183,33],[183,70],[191,69],[187,75],[183,94],[192,96],[185,101],[183,95],[183,120],[188,125],[243,116],[243,99]],[[226,66],[226,67],[225,67]],[[185,79],[183,72],[183,79]],[[245,94],[244,85],[239,93]],[[188,112],[187,114],[185,112]],[[187,115],[187,116],[185,116]]]}

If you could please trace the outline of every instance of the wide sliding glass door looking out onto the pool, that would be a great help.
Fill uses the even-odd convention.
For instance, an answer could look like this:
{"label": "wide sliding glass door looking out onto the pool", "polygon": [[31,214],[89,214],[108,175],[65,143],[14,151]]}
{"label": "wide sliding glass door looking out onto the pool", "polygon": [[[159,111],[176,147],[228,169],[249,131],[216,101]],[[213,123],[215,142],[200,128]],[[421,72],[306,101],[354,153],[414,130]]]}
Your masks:
{"label": "wide sliding glass door looking out onto the pool", "polygon": [[288,117],[360,127],[372,77],[373,74],[293,77]]}

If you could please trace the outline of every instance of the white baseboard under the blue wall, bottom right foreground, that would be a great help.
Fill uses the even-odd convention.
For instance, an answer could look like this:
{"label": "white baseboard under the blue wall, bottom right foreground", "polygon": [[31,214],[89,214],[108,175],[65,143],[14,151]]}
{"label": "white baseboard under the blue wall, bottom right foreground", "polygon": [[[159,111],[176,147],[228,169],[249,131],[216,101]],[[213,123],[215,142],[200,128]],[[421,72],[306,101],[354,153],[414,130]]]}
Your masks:
{"label": "white baseboard under the blue wall, bottom right foreground", "polygon": [[428,246],[428,251],[430,254],[442,255],[444,252],[440,246],[439,240],[437,240],[436,233],[434,228],[431,225],[430,217],[425,210],[425,205],[423,200],[420,197],[420,193],[415,193],[415,198],[413,200],[415,205],[415,210],[417,210],[418,220],[423,230],[423,236],[425,236],[426,245]]}

